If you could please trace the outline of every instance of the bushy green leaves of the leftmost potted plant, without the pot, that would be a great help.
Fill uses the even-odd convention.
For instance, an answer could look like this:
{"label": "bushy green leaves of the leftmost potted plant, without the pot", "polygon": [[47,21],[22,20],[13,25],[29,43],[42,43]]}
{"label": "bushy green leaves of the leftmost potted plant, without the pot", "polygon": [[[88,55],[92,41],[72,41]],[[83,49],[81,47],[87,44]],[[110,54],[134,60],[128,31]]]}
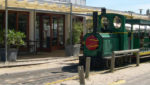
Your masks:
{"label": "bushy green leaves of the leftmost potted plant, without the pot", "polygon": [[[5,44],[5,31],[1,30],[0,31],[0,44],[4,46]],[[19,47],[21,45],[24,45],[25,42],[23,38],[25,38],[25,34],[22,32],[16,32],[15,30],[8,30],[8,35],[7,35],[7,45],[9,47]]]}

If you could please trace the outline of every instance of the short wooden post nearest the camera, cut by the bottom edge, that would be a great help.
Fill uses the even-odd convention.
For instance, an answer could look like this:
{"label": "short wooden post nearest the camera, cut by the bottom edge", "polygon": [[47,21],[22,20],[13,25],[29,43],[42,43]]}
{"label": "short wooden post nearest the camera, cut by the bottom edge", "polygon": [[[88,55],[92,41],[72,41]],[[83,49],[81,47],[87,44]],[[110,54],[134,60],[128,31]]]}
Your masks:
{"label": "short wooden post nearest the camera, cut by the bottom edge", "polygon": [[85,85],[83,66],[78,66],[78,74],[79,74],[80,85]]}

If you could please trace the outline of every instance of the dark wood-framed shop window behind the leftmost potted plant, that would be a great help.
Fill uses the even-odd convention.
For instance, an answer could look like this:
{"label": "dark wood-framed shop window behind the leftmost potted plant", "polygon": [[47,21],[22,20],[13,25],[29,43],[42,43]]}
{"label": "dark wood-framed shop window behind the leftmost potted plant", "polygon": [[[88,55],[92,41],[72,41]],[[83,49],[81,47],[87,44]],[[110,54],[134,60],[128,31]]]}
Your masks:
{"label": "dark wood-framed shop window behind the leftmost potted plant", "polygon": [[[29,12],[9,11],[8,12],[8,29],[23,32],[26,35],[24,41],[26,46],[22,46],[21,50],[29,48]],[[0,29],[5,29],[5,11],[0,11]]]}

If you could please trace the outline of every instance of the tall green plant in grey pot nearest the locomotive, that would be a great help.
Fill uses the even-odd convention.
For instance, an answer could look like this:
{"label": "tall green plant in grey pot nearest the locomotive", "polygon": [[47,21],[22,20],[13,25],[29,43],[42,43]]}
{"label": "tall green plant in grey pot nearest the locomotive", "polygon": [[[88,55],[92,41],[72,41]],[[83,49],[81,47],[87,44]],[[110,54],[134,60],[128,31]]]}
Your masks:
{"label": "tall green plant in grey pot nearest the locomotive", "polygon": [[67,39],[65,46],[65,52],[67,56],[78,56],[80,54],[80,36],[83,30],[82,22],[74,22],[72,30],[72,45],[70,44],[70,38]]}

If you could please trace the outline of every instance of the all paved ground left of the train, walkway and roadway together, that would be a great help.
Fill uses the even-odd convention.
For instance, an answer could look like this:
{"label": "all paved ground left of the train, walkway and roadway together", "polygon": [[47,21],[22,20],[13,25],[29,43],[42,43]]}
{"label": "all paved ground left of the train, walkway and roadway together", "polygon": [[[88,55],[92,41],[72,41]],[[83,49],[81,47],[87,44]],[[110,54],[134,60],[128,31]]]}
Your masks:
{"label": "all paved ground left of the train, walkway and roadway together", "polygon": [[0,63],[0,85],[46,85],[77,75],[78,57],[48,56]]}

